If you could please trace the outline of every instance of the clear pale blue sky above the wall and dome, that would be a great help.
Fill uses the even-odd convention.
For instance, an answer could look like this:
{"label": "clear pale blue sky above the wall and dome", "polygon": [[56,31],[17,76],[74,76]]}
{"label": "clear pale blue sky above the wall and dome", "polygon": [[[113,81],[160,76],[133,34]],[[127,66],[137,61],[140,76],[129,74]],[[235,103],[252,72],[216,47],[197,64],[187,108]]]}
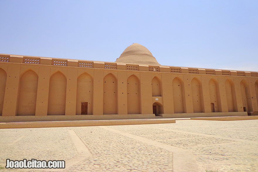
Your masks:
{"label": "clear pale blue sky above the wall and dome", "polygon": [[258,1],[0,0],[0,53],[258,71]]}

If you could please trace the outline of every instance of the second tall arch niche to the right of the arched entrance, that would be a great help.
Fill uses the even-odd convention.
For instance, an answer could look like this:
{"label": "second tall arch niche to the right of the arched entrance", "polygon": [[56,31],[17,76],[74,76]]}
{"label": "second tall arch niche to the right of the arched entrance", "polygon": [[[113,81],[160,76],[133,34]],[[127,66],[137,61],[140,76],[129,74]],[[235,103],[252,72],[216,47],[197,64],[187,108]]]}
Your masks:
{"label": "second tall arch niche to the right of the arched entrance", "polygon": [[191,81],[193,113],[204,112],[201,81],[194,77]]}

